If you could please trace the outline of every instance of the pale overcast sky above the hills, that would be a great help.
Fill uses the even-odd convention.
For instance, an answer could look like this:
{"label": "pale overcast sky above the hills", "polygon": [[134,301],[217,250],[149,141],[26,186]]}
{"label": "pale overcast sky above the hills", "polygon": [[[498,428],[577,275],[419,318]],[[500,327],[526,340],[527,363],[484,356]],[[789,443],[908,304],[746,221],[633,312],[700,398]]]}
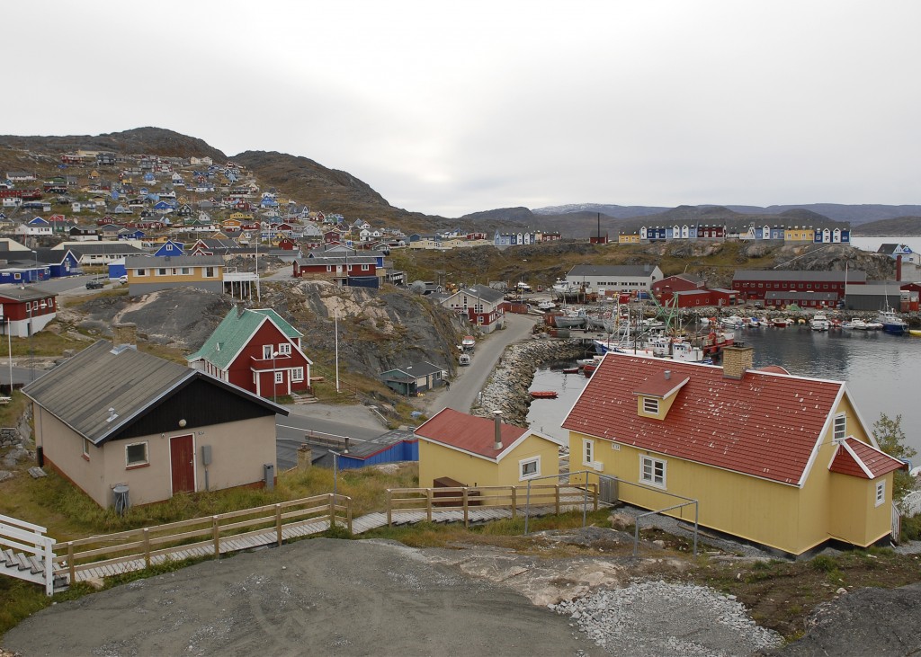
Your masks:
{"label": "pale overcast sky above the hills", "polygon": [[921,202],[918,0],[45,0],[2,16],[0,133],[167,128],[228,156],[306,156],[449,217]]}

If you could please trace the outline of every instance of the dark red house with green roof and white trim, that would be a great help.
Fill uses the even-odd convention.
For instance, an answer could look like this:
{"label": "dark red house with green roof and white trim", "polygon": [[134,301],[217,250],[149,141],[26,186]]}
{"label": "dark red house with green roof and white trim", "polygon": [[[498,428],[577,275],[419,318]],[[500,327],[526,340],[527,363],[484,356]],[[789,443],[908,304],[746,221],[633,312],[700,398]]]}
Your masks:
{"label": "dark red house with green roof and white trim", "polygon": [[309,392],[302,334],[270,308],[231,308],[202,348],[188,356],[197,370],[264,398]]}

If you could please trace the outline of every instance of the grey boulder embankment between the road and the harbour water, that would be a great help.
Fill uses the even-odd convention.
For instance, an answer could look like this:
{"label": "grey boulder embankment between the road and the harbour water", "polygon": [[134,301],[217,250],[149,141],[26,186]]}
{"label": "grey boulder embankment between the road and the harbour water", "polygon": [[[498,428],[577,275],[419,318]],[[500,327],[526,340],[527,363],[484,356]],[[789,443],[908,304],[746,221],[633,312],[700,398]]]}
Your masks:
{"label": "grey boulder embankment between the road and the harbour water", "polygon": [[579,340],[534,340],[513,344],[496,364],[486,382],[472,415],[492,417],[502,411],[502,420],[519,426],[528,425],[530,392],[534,372],[544,363],[580,358],[585,347]]}

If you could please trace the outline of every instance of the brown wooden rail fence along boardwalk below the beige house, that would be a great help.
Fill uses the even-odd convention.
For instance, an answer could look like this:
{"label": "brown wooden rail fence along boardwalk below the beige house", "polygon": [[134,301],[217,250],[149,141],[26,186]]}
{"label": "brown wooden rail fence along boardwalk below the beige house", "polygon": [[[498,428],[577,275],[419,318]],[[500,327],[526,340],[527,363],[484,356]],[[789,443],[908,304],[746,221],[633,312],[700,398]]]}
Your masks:
{"label": "brown wooden rail fence along boardwalk below the beige house", "polygon": [[[55,573],[66,573],[69,582],[73,583],[80,571],[105,572],[107,568],[114,572],[130,571],[135,570],[133,566],[139,565],[129,565],[130,562],[143,561],[143,566],[149,568],[151,563],[168,558],[184,559],[208,554],[218,557],[222,551],[245,549],[257,544],[281,545],[283,530],[318,523],[330,527],[344,524],[351,532],[352,499],[328,493],[67,541],[58,544]],[[253,540],[257,536],[262,540]],[[266,536],[269,540],[265,540]]]}

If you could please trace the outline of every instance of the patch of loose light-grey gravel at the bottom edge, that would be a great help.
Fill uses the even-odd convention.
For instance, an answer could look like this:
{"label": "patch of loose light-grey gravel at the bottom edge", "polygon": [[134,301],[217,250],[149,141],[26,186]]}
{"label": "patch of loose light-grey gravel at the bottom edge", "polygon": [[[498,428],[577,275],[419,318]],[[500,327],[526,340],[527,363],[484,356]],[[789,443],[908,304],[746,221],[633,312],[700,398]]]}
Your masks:
{"label": "patch of loose light-grey gravel at the bottom edge", "polygon": [[635,582],[547,606],[612,655],[722,657],[783,643],[758,627],[735,595],[693,584]]}

